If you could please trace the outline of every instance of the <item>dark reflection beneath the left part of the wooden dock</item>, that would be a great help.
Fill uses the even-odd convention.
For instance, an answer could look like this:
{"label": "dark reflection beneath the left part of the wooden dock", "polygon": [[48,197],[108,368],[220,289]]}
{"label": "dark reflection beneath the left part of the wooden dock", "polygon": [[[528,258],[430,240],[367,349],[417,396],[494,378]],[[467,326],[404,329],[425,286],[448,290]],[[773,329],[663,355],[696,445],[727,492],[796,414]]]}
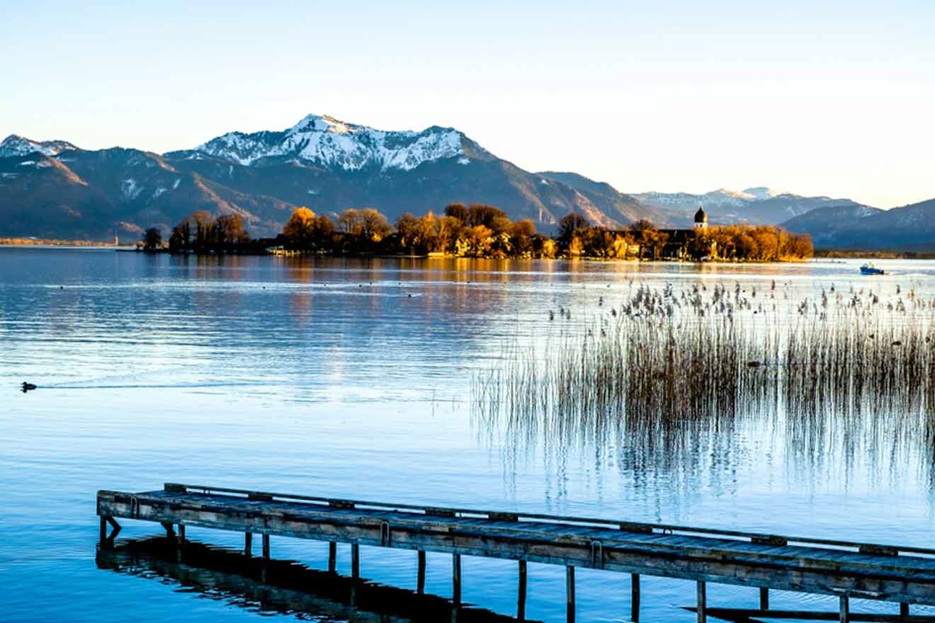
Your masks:
{"label": "dark reflection beneath the left part of the wooden dock", "polygon": [[295,560],[246,558],[227,549],[165,538],[97,553],[100,569],[146,577],[260,614],[354,623],[507,623],[517,619],[447,599],[309,569]]}

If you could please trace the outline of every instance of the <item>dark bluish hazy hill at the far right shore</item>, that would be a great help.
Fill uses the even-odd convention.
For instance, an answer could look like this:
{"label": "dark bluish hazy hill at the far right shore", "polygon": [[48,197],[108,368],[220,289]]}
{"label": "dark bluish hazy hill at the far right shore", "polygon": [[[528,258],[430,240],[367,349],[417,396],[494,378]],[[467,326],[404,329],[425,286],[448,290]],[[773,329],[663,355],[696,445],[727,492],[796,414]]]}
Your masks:
{"label": "dark bluish hazy hill at the far right shore", "polygon": [[811,234],[816,248],[935,249],[935,199],[879,210],[830,206],[789,219],[784,228]]}

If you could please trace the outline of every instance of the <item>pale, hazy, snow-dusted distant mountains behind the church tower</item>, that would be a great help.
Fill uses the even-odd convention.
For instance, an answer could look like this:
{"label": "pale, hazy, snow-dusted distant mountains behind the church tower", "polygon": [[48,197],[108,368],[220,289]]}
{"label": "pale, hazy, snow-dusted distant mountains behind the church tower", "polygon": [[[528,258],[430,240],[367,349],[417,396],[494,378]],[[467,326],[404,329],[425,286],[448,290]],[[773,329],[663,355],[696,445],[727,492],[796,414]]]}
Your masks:
{"label": "pale, hazy, snow-dusted distant mountains behind the church tower", "polygon": [[704,194],[642,192],[633,197],[643,205],[666,209],[681,214],[685,219],[694,215],[698,206],[701,206],[708,213],[708,219],[714,224],[736,222],[777,224],[818,207],[859,205],[850,199],[803,197],[766,187],[748,188],[743,191],[719,189]]}

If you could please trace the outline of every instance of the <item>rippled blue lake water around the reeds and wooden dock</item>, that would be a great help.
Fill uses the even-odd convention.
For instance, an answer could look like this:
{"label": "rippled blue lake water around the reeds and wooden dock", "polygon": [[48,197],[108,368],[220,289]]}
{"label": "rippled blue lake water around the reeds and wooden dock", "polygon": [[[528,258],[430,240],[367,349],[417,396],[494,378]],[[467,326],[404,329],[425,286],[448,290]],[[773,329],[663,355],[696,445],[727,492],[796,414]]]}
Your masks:
{"label": "rippled blue lake water around the reeds and wooden dock", "polygon": [[[877,262],[891,273],[884,277],[860,276],[860,263],[315,261],[0,248],[0,619],[356,620],[326,610],[281,615],[158,573],[99,567],[96,490],[172,481],[930,545],[935,489],[922,444],[803,453],[776,418],[744,418],[672,460],[626,440],[596,446],[505,434],[472,409],[476,375],[496,368],[510,344],[541,343],[554,326],[550,311],[568,310],[562,321],[583,330],[644,285],[765,291],[775,282],[793,304],[832,287],[935,299],[935,263]],[[23,394],[22,381],[39,389]],[[121,537],[156,528],[126,521]],[[242,545],[237,534],[188,536]],[[326,567],[325,544],[274,537],[272,553]],[[368,580],[415,587],[412,552],[364,547],[361,559]],[[466,557],[462,565],[465,602],[514,613],[515,563]],[[338,571],[349,569],[339,546]],[[527,617],[565,620],[564,586],[563,569],[530,564]],[[580,570],[578,620],[626,620],[628,587],[626,575]],[[451,595],[449,557],[428,555],[426,590]],[[753,588],[709,587],[711,606],[756,599]],[[695,620],[681,608],[694,603],[687,582],[644,577],[641,602],[642,621]],[[837,608],[794,593],[776,593],[771,604]],[[853,608],[897,612],[873,602]]]}

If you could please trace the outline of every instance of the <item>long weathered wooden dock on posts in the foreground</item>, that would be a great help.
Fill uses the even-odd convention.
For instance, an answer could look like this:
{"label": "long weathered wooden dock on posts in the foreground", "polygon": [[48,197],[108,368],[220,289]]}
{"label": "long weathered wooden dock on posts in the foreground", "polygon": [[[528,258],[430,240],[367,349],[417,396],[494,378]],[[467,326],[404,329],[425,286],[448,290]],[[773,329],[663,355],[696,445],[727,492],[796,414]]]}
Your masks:
{"label": "long weathered wooden dock on posts in the foreground", "polygon": [[[709,614],[708,583],[758,588],[760,607],[743,610],[747,617],[791,618],[770,609],[770,589],[835,596],[839,611],[822,616],[841,622],[932,620],[910,616],[909,606],[935,605],[935,549],[921,547],[180,484],[140,493],[98,491],[97,515],[102,547],[113,545],[120,531],[117,518],[161,523],[168,536],[180,540],[186,527],[242,532],[248,555],[253,534],[260,534],[264,559],[270,558],[270,536],[325,541],[330,544],[331,572],[337,544],[350,544],[352,578],[360,576],[360,545],[410,549],[418,556],[419,592],[424,591],[425,552],[449,553],[455,604],[461,602],[462,556],[514,559],[520,620],[525,618],[528,561],[566,568],[569,622],[575,616],[577,567],[630,574],[635,622],[640,620],[640,575],[695,582],[699,623]],[[883,619],[852,616],[851,598],[896,602],[899,614]],[[712,609],[712,616],[728,611]]]}

